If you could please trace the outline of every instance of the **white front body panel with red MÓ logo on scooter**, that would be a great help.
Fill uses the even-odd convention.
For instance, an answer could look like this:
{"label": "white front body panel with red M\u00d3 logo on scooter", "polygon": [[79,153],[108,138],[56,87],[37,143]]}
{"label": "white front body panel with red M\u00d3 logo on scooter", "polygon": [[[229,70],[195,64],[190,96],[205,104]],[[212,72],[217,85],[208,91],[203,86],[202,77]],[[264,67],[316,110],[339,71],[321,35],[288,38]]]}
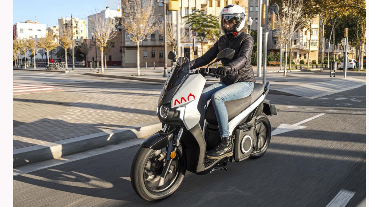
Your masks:
{"label": "white front body panel with red M\u00d3 logo on scooter", "polygon": [[171,100],[171,108],[178,107],[177,110],[180,111],[180,117],[187,130],[200,121],[197,104],[205,83],[206,80],[201,74],[190,75]]}

